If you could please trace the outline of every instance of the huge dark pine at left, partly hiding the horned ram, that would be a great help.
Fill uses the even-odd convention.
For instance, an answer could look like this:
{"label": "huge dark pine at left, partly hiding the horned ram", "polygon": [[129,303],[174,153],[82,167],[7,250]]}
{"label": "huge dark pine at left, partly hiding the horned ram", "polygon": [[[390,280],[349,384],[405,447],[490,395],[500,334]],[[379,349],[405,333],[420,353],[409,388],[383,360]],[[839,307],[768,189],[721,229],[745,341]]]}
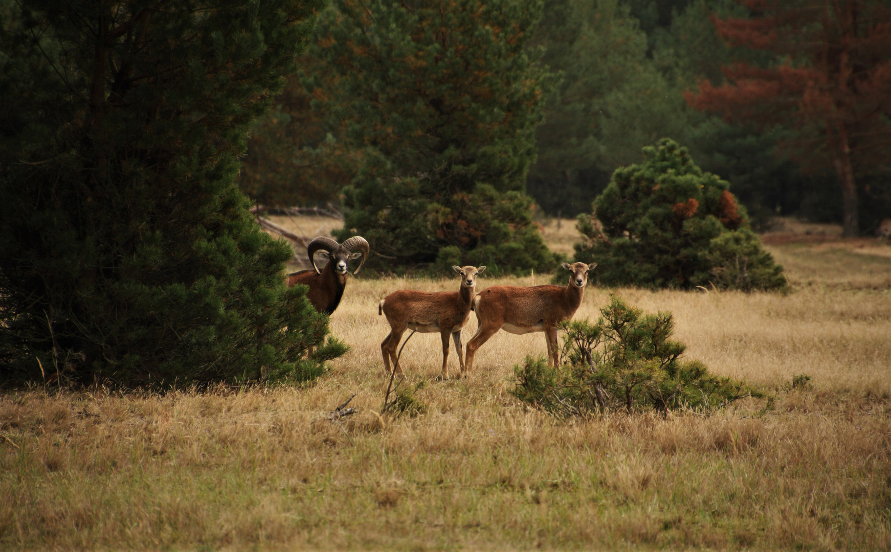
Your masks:
{"label": "huge dark pine at left, partly hiding the horned ram", "polygon": [[294,70],[320,7],[9,7],[0,378],[300,379],[343,352],[323,343],[327,319],[305,290],[283,286],[290,248],[257,231],[233,183],[249,123]]}

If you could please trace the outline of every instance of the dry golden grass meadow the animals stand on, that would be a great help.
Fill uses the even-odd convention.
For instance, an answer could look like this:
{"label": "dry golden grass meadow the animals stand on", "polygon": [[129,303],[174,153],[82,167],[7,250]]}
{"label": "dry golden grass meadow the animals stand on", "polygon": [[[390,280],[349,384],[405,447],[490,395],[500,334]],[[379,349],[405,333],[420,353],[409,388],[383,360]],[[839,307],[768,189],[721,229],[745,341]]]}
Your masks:
{"label": "dry golden grass meadow the animals stand on", "polygon": [[[545,238],[568,252],[573,222],[552,225]],[[874,241],[862,245],[891,250]],[[891,256],[776,242],[787,296],[614,290],[674,313],[688,357],[770,400],[564,421],[508,393],[542,334],[501,332],[470,378],[447,381],[439,337],[419,334],[402,385],[426,411],[381,417],[378,301],[458,280],[360,275],[331,322],[352,351],[315,385],[0,395],[0,546],[891,549]],[[609,292],[588,288],[576,318]],[[475,328],[471,316],[465,343]],[[799,374],[811,386],[792,389]],[[359,413],[325,418],[354,393]]]}

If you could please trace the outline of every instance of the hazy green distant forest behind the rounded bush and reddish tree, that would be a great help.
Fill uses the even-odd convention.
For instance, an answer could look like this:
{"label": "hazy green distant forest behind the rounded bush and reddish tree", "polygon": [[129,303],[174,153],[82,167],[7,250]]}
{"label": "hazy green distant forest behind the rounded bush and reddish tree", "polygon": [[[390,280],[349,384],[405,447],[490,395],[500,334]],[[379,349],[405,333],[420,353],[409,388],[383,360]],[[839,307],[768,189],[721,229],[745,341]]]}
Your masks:
{"label": "hazy green distant forest behind the rounded bush and reddish tree", "polygon": [[[588,210],[613,170],[639,161],[642,146],[671,137],[688,146],[703,169],[731,183],[756,227],[776,214],[841,222],[837,177],[813,162],[819,150],[805,150],[798,163],[788,149],[778,150],[800,128],[730,124],[684,101],[683,93],[700,82],[726,84],[723,68],[734,62],[771,67],[778,61],[772,53],[732,48],[715,29],[716,19],[756,12],[733,0],[554,0],[547,6],[538,40],[547,47],[544,61],[564,78],[538,131],[528,189],[549,212]],[[891,212],[891,175],[875,163],[863,169],[861,229],[871,231]]]}

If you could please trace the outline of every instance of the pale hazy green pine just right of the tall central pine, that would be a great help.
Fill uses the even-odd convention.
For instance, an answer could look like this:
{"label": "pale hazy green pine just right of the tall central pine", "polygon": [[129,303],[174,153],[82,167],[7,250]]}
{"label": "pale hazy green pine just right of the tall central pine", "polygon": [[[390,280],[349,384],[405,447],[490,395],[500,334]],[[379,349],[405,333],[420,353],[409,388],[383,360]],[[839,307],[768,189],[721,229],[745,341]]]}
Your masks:
{"label": "pale hazy green pine just right of the tall central pine", "polygon": [[648,37],[620,0],[552,0],[536,31],[543,62],[560,71],[536,132],[528,189],[544,209],[575,215],[643,145],[682,139],[680,91],[648,57]]}

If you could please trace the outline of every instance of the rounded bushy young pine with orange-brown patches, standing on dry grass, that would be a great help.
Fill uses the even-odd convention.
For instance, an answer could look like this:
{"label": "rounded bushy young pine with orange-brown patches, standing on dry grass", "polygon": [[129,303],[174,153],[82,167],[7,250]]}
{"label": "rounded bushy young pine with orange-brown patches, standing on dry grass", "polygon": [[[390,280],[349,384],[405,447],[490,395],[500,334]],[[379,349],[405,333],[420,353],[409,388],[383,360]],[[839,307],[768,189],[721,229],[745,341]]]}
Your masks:
{"label": "rounded bushy young pine with orange-brown patches, standing on dry grass", "polygon": [[686,148],[664,138],[644,161],[618,168],[579,215],[576,259],[596,260],[608,286],[783,289],[782,267],[748,228],[730,184],[704,172]]}

